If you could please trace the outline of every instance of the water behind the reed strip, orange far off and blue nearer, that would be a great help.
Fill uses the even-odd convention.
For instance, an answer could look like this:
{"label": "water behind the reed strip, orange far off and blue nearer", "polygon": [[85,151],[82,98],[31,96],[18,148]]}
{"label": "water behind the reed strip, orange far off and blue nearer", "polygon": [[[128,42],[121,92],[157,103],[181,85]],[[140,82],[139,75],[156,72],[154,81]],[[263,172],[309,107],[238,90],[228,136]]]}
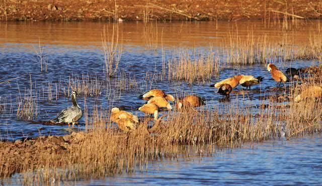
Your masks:
{"label": "water behind the reed strip, orange far off and blue nearer", "polygon": [[[303,29],[302,24],[306,25]],[[28,97],[30,87],[32,96],[37,97],[39,115],[33,120],[48,120],[54,118],[63,108],[71,105],[68,98],[69,77],[90,76],[97,77],[102,84],[105,83],[104,75],[104,53],[101,48],[101,33],[104,28],[103,23],[0,23],[0,82],[18,78],[10,83],[0,84],[0,104],[6,105],[8,109],[0,113],[0,140],[16,140],[22,137],[35,137],[39,135],[63,135],[69,133],[65,126],[44,126],[40,123],[31,123],[17,119],[17,100],[19,97]],[[111,25],[109,25],[111,27]],[[89,113],[93,107],[103,109],[112,105],[124,105],[127,110],[131,110],[143,116],[143,113],[136,109],[144,103],[136,96],[150,88],[164,89],[168,93],[188,93],[198,94],[207,100],[207,105],[200,109],[212,109],[227,104],[221,102],[221,95],[215,93],[214,89],[208,86],[211,83],[231,77],[236,74],[247,74],[264,77],[260,86],[254,86],[256,91],[242,91],[238,95],[238,100],[243,107],[253,107],[263,103],[259,96],[266,95],[263,91],[276,86],[266,70],[266,65],[252,65],[241,67],[227,66],[220,72],[220,77],[213,77],[210,82],[193,83],[190,86],[183,81],[159,81],[152,83],[146,81],[146,73],[154,73],[155,69],[162,69],[162,50],[166,52],[168,58],[175,48],[196,47],[199,50],[208,50],[209,45],[213,48],[220,47],[222,38],[227,36],[227,32],[238,30],[239,35],[245,35],[250,28],[254,34],[267,33],[271,36],[279,37],[280,32],[274,27],[263,27],[261,22],[241,22],[231,23],[158,23],[158,45],[156,49],[150,49],[153,33],[149,30],[156,26],[146,26],[143,29],[141,23],[121,24],[123,39],[123,53],[119,65],[119,70],[131,77],[135,77],[139,84],[137,88],[125,90],[121,94],[115,94],[113,98],[107,97],[110,90],[103,85],[101,96],[87,97],[86,104]],[[217,27],[217,29],[215,29]],[[314,23],[298,23],[288,33],[295,40],[301,42],[304,34],[314,29]],[[279,28],[280,29],[280,28]],[[147,31],[148,30],[148,31]],[[111,31],[109,31],[111,33]],[[143,32],[143,34],[142,34]],[[145,35],[145,36],[143,36]],[[178,36],[180,35],[180,37]],[[162,36],[162,40],[161,40]],[[296,37],[295,37],[296,36]],[[174,39],[176,38],[176,39]],[[48,60],[48,72],[40,72],[40,63],[37,58],[39,40],[44,46],[45,60]],[[164,48],[161,48],[164,47]],[[277,61],[275,61],[277,63]],[[317,64],[317,61],[293,61],[292,63],[280,63],[281,70],[288,67],[308,67]],[[44,66],[44,65],[43,65]],[[45,68],[45,67],[43,67]],[[115,78],[114,78],[115,79]],[[113,80],[113,79],[112,79]],[[31,83],[31,82],[32,83]],[[32,84],[32,85],[31,85]],[[48,100],[48,84],[51,84],[53,95],[52,100]],[[56,90],[58,87],[58,91]],[[105,88],[104,88],[105,87]],[[236,88],[237,92],[241,87]],[[56,97],[58,92],[58,97]],[[240,94],[240,92],[239,92]],[[232,94],[229,104],[237,104],[237,94]],[[113,99],[111,101],[111,99]],[[77,97],[78,104],[84,108],[84,96]],[[240,102],[240,101],[239,101]],[[264,101],[265,102],[265,101]],[[84,117],[80,120],[81,125],[77,130],[84,130]]]}

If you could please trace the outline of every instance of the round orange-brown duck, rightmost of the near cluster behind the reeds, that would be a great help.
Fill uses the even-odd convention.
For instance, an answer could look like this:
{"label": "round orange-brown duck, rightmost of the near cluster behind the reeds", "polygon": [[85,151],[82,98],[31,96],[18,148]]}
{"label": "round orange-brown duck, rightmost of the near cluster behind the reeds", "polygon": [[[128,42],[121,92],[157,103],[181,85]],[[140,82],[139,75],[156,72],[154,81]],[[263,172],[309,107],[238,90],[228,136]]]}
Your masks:
{"label": "round orange-brown duck, rightmost of the near cluster behind the reeds", "polygon": [[182,108],[198,107],[201,105],[205,105],[205,100],[202,97],[196,95],[188,95],[183,98],[179,98],[176,101],[176,108],[178,110]]}

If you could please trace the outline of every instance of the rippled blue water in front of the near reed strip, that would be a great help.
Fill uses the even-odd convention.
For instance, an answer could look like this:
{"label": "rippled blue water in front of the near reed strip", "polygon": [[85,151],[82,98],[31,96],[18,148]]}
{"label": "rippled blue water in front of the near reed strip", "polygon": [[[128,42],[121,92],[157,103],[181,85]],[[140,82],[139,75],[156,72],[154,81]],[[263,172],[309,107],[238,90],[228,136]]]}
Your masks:
{"label": "rippled blue water in front of the near reed strip", "polygon": [[211,157],[151,162],[147,170],[76,185],[320,185],[322,136],[223,149]]}

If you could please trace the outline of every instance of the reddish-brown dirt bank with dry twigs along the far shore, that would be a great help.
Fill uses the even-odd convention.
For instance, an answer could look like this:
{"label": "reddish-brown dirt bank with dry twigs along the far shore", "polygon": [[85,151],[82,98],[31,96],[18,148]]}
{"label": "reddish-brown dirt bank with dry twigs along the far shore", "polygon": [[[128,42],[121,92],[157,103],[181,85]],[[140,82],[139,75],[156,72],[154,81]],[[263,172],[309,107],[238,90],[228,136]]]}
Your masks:
{"label": "reddish-brown dirt bank with dry twigs along the far shore", "polygon": [[[118,0],[118,17],[133,20],[311,19],[322,14],[321,1],[308,0]],[[0,0],[0,21],[94,21],[114,16],[114,0]]]}

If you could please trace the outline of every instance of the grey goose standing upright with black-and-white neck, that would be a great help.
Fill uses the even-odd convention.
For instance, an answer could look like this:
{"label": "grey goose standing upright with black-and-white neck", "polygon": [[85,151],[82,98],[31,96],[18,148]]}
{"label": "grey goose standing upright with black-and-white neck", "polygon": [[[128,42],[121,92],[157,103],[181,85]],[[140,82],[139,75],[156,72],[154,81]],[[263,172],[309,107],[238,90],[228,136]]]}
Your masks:
{"label": "grey goose standing upright with black-and-white neck", "polygon": [[76,95],[77,92],[72,91],[71,92],[71,102],[72,106],[63,109],[60,113],[57,114],[57,117],[53,120],[56,120],[56,123],[68,123],[68,126],[70,123],[72,123],[72,128],[74,127],[74,124],[76,121],[78,121],[83,116],[83,111],[81,107],[76,102]]}

